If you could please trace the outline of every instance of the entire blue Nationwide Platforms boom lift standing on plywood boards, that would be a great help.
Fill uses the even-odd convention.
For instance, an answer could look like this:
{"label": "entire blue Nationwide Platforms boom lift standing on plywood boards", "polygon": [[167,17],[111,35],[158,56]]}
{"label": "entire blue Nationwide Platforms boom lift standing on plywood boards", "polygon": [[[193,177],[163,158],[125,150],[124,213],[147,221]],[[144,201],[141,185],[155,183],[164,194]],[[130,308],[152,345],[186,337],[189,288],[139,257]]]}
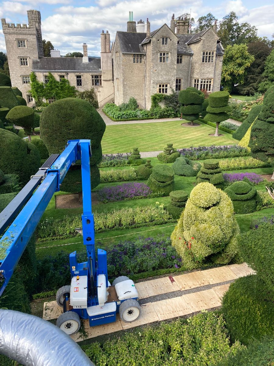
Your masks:
{"label": "entire blue Nationwide Platforms boom lift standing on plywood boards", "polygon": [[65,150],[60,155],[50,156],[0,214],[0,234],[10,225],[0,240],[1,296],[54,192],[60,190],[69,167],[76,160],[81,160],[82,234],[87,261],[78,263],[76,251],[69,255],[71,284],[61,287],[56,294],[57,304],[63,307],[57,326],[68,335],[79,330],[80,318],[89,319],[90,326],[95,326],[114,322],[118,312],[125,322],[135,321],[141,315],[138,292],[133,281],[121,276],[110,285],[106,251],[98,249],[96,260],[90,156],[90,140],[68,141]]}

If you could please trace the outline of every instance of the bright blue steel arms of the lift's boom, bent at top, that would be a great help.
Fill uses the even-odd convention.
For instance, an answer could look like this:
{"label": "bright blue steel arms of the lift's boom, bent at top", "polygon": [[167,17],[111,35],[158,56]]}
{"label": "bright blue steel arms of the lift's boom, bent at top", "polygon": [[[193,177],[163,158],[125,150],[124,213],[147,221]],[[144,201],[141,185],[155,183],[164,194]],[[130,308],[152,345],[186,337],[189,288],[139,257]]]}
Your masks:
{"label": "bright blue steel arms of the lift's boom, bent at top", "polygon": [[[82,164],[84,205],[82,220],[86,220],[85,225],[89,228],[88,231],[85,230],[88,235],[84,237],[84,244],[87,246],[89,256],[92,259],[95,258],[94,220],[91,212],[90,156],[90,140],[68,141],[65,150],[52,166],[47,169],[46,178],[3,235],[0,240],[0,296],[11,279],[15,266],[23,254],[54,192],[60,190],[60,184],[65,178],[68,169],[76,160],[80,159]],[[90,224],[87,223],[87,220],[90,220]]]}

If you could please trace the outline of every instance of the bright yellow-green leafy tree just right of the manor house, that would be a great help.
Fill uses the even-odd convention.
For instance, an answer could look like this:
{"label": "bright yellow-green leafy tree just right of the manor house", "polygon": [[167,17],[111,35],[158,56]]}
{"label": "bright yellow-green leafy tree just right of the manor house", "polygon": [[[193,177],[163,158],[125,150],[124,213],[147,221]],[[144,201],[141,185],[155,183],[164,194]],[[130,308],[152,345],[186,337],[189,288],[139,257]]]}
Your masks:
{"label": "bright yellow-green leafy tree just right of the manor house", "polygon": [[225,90],[231,91],[233,85],[243,84],[247,74],[247,68],[255,60],[253,55],[248,53],[247,45],[229,45],[225,49],[222,64],[221,85]]}

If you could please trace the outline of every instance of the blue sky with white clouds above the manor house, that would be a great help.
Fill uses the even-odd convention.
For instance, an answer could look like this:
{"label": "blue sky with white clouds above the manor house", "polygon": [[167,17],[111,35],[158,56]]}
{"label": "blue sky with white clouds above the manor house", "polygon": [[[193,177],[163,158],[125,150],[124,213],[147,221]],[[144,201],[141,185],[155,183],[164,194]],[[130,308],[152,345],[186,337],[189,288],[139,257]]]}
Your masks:
{"label": "blue sky with white clouds above the manor house", "polygon": [[[100,55],[100,33],[108,29],[111,41],[117,30],[126,31],[129,11],[133,20],[140,18],[151,22],[151,30],[167,23],[172,13],[175,18],[190,12],[195,20],[212,12],[219,20],[235,11],[240,22],[248,22],[258,28],[258,36],[271,39],[274,33],[273,0],[0,0],[0,18],[6,22],[27,23],[28,9],[41,11],[43,39],[50,40],[54,48],[67,52],[81,51],[88,45],[88,54]],[[0,51],[5,52],[3,31],[0,29]]]}

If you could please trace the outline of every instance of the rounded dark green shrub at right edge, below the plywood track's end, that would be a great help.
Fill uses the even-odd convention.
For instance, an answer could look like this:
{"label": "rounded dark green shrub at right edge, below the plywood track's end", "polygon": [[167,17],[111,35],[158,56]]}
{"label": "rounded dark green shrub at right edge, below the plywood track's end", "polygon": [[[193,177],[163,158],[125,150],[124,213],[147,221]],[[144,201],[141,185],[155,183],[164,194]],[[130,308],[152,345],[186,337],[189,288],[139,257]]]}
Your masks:
{"label": "rounded dark green shrub at right edge, below the plywood track's end", "polygon": [[253,339],[274,336],[273,302],[260,297],[258,276],[241,277],[229,286],[222,299],[222,313],[231,340],[248,344]]}

